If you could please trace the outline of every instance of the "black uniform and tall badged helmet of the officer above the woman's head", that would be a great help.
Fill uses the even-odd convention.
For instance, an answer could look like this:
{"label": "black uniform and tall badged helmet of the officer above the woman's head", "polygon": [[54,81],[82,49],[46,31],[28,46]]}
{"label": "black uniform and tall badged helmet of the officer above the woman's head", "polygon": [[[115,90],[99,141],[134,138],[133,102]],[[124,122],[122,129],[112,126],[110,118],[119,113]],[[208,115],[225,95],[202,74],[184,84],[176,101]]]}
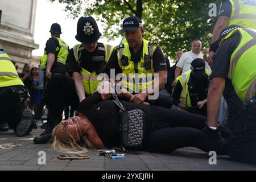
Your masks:
{"label": "black uniform and tall badged helmet of the officer above the woman's head", "polygon": [[[90,22],[92,24],[93,35],[86,36],[84,32],[84,26],[85,23]],[[90,16],[82,16],[79,19],[79,22],[77,23],[77,35],[76,39],[79,42],[85,42],[85,43],[93,43],[96,42],[101,36],[100,31],[98,30],[96,21]],[[104,55],[105,51],[102,50],[102,44],[98,43],[98,46],[96,50],[92,53],[89,53],[87,51],[82,50],[81,51],[81,64],[77,64],[77,61],[75,60],[75,56],[73,53],[73,48],[69,50],[68,58],[67,58],[67,71],[72,74],[73,72],[80,72],[80,66],[84,67],[86,69],[89,69],[89,71],[93,69],[97,69],[100,67],[101,63],[100,61],[92,64],[93,57],[95,55]],[[90,64],[88,64],[90,63]],[[63,108],[64,106],[71,106],[75,110],[77,110],[77,106],[79,105],[79,97],[77,96],[76,92],[76,86],[75,81],[72,80],[69,76],[61,74],[61,73],[55,73],[53,74],[51,78],[51,85],[49,85],[49,119],[52,121],[53,125],[47,127],[46,131],[40,135],[39,137],[35,137],[34,142],[35,143],[47,143],[51,139],[51,131],[53,127],[57,125],[61,121],[61,117],[63,114]],[[52,88],[52,89],[51,89]]]}

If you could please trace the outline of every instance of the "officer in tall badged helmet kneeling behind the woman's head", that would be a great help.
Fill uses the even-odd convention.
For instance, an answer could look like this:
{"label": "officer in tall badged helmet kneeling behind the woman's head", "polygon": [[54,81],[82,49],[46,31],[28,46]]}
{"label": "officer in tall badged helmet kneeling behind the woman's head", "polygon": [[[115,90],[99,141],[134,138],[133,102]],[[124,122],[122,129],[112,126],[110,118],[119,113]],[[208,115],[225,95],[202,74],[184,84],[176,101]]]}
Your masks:
{"label": "officer in tall badged helmet kneeling behind the woman's head", "polygon": [[[63,108],[69,105],[77,109],[79,102],[97,91],[100,81],[97,75],[108,68],[108,61],[114,47],[98,43],[101,33],[92,16],[82,16],[77,22],[76,40],[81,42],[74,46],[68,54],[67,71],[73,76],[73,80],[67,75],[56,74],[52,77],[54,89],[49,89],[53,107],[49,107],[49,118],[53,125],[34,138],[34,143],[48,143],[51,140],[53,127],[61,121]],[[108,99],[110,94],[102,94],[102,98]]]}

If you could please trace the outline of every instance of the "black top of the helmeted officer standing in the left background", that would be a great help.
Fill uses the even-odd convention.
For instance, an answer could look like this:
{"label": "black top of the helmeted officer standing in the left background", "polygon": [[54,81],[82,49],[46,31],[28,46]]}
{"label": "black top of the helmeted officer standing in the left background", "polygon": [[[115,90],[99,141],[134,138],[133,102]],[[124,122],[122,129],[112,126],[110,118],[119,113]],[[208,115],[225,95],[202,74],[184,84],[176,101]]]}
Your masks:
{"label": "black top of the helmeted officer standing in the left background", "polygon": [[52,65],[51,72],[54,73],[65,73],[66,72],[66,66],[62,63],[57,62],[57,54],[59,51],[56,52],[56,47],[60,47],[59,41],[56,38],[50,38],[46,42],[46,48],[44,49],[46,51],[46,54],[49,55],[49,53],[55,54],[55,61]]}

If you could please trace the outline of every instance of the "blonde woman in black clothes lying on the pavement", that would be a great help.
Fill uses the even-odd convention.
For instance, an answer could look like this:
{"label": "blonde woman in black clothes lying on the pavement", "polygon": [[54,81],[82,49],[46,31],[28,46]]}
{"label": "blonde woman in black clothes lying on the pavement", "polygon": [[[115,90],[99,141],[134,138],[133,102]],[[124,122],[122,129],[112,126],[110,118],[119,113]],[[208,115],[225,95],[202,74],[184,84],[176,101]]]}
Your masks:
{"label": "blonde woman in black clothes lying on the pavement", "polygon": [[[146,140],[143,150],[170,153],[177,148],[197,147],[205,152],[224,154],[220,131],[204,131],[206,118],[185,111],[159,106],[138,105],[125,101],[129,94],[122,94],[121,103],[127,110],[141,109],[145,114]],[[100,94],[93,94],[80,103],[79,117],[61,122],[53,130],[53,149],[59,151],[85,151],[94,148],[119,147],[119,108],[113,101],[102,101]],[[132,148],[131,148],[132,149]]]}

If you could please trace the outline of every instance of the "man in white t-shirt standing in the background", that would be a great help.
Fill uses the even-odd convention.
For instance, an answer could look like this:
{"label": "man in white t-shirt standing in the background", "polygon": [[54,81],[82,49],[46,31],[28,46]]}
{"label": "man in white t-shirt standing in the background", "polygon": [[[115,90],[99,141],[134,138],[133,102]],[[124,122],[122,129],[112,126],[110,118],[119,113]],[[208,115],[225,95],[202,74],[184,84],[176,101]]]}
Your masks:
{"label": "man in white t-shirt standing in the background", "polygon": [[[202,43],[200,40],[193,40],[192,42],[192,50],[183,53],[183,55],[180,57],[179,62],[176,64],[176,69],[175,69],[175,78],[180,76],[181,70],[182,74],[189,71],[191,67],[191,63],[194,59],[200,58],[203,59],[204,54],[201,53],[201,48],[202,48]],[[207,63],[205,63],[205,68],[210,71],[210,67]],[[176,86],[176,82],[172,83],[172,86]]]}

